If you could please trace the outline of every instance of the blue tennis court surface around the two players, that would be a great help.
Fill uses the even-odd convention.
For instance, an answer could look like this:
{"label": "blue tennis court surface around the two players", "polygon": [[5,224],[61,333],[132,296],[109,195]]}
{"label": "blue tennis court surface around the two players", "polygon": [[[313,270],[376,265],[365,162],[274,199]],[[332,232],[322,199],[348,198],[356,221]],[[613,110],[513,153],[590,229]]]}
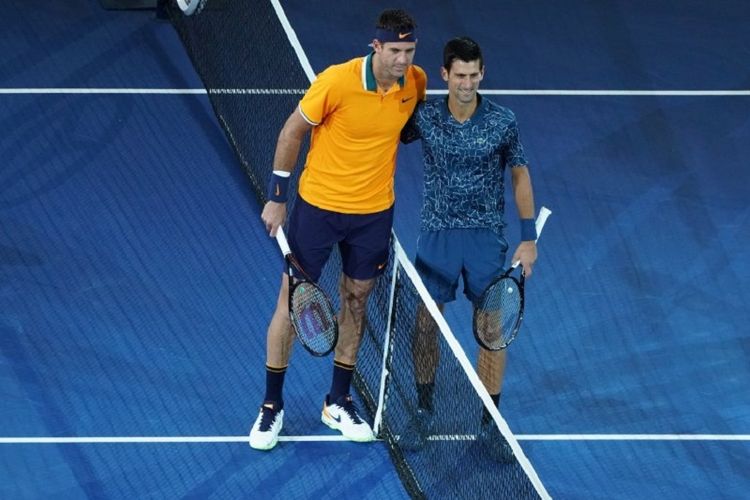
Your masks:
{"label": "blue tennis court surface around the two players", "polygon": [[[280,5],[314,72],[387,7]],[[482,45],[553,210],[501,407],[549,494],[746,498],[750,4],[401,6],[431,98],[444,42]],[[383,443],[320,423],[331,359],[300,348],[285,440],[247,445],[282,258],[174,27],[97,0],[11,0],[0,26],[0,496],[408,498]],[[412,255],[421,175],[402,147]],[[473,358],[469,314],[446,317]]]}

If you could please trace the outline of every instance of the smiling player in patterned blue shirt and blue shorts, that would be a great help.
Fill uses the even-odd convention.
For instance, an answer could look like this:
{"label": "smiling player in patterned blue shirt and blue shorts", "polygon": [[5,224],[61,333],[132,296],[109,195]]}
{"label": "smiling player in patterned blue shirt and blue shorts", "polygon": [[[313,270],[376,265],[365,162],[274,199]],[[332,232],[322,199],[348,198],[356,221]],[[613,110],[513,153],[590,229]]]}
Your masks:
{"label": "smiling player in patterned blue shirt and blue shorts", "polygon": [[[448,96],[421,103],[401,140],[422,141],[424,202],[416,267],[442,310],[445,303],[455,300],[459,278],[463,278],[466,297],[476,303],[504,268],[506,170],[511,172],[521,218],[521,242],[512,262],[521,262],[527,278],[537,250],[531,177],[516,117],[478,93],[484,76],[479,45],[466,37],[450,40],[443,51],[441,75],[448,84]],[[419,395],[416,422],[421,424],[407,439],[420,446],[432,412],[439,352],[437,327],[424,311],[418,325],[413,351]],[[477,371],[495,404],[500,400],[505,362],[505,350],[480,348]],[[486,410],[482,421],[485,434],[492,436],[495,427],[489,425]]]}

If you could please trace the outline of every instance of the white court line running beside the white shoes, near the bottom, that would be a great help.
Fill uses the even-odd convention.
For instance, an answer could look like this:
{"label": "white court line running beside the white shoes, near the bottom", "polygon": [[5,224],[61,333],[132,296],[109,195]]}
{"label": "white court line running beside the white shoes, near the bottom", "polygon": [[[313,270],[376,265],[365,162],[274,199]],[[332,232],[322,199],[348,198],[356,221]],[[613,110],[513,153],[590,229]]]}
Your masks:
{"label": "white court line running beside the white shoes, near the bottom", "polygon": [[[750,441],[750,434],[515,434],[518,441]],[[473,434],[434,435],[429,441],[474,441]],[[343,436],[279,436],[288,442],[348,441]],[[247,443],[247,436],[0,437],[0,444]]]}

